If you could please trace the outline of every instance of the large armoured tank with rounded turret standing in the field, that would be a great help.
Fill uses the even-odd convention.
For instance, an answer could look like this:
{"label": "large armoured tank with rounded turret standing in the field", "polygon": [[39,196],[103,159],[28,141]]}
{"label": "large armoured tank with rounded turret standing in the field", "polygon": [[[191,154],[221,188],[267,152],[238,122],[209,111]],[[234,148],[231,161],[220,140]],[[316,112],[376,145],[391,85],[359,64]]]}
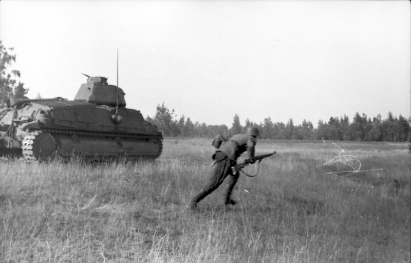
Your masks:
{"label": "large armoured tank with rounded turret standing in the field", "polygon": [[[88,77],[88,76],[87,76]],[[28,161],[60,156],[86,160],[156,159],[162,134],[124,91],[105,77],[88,77],[74,100],[17,100],[0,108],[0,155]]]}

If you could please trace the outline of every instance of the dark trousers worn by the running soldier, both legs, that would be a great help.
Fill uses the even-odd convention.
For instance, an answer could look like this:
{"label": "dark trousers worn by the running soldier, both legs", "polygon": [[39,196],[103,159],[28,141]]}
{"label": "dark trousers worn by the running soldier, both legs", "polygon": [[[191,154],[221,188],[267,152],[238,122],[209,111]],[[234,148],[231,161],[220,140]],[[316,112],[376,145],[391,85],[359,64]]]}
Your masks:
{"label": "dark trousers worn by the running soldier, both legs", "polygon": [[215,154],[215,161],[216,163],[214,164],[214,171],[209,179],[209,182],[207,185],[204,185],[202,187],[200,193],[197,194],[197,196],[194,197],[192,200],[193,202],[197,203],[201,201],[204,197],[208,196],[211,194],[214,190],[220,186],[220,184],[226,179],[226,184],[227,184],[227,189],[226,189],[226,203],[230,200],[231,192],[234,189],[234,186],[238,180],[239,173],[236,175],[233,175],[231,171],[231,167],[236,165],[236,162],[228,158],[228,156],[223,153],[223,152],[217,152]]}

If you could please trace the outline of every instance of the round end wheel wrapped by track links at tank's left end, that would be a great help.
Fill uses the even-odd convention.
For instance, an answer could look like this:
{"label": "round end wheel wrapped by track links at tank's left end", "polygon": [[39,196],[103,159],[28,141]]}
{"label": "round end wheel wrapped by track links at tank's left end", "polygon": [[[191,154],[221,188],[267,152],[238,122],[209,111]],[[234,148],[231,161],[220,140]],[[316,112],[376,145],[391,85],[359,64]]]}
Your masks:
{"label": "round end wheel wrapped by track links at tank's left end", "polygon": [[50,158],[57,149],[53,136],[39,130],[29,133],[23,139],[23,157],[26,161],[43,161]]}

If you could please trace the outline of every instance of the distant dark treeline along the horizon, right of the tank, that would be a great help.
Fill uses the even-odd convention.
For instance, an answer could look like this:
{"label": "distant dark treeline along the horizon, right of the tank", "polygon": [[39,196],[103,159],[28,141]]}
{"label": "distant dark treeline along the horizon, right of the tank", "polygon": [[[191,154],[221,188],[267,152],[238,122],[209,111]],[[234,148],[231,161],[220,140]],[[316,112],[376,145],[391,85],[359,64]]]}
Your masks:
{"label": "distant dark treeline along the horizon, right of the tank", "polygon": [[320,120],[314,128],[310,121],[304,120],[302,124],[295,124],[292,119],[287,123],[273,122],[270,117],[262,123],[255,123],[247,119],[245,126],[240,124],[240,117],[234,115],[233,124],[228,127],[222,125],[207,125],[193,121],[185,116],[177,118],[174,109],[170,110],[164,102],[157,105],[156,115],[148,117],[147,121],[157,125],[164,137],[207,137],[212,138],[218,134],[245,133],[248,126],[256,126],[260,131],[259,138],[262,139],[294,139],[294,140],[340,140],[340,141],[410,141],[411,118],[403,116],[394,117],[388,112],[387,118],[369,118],[358,112],[352,122],[344,115],[343,117],[330,117],[325,122]]}

